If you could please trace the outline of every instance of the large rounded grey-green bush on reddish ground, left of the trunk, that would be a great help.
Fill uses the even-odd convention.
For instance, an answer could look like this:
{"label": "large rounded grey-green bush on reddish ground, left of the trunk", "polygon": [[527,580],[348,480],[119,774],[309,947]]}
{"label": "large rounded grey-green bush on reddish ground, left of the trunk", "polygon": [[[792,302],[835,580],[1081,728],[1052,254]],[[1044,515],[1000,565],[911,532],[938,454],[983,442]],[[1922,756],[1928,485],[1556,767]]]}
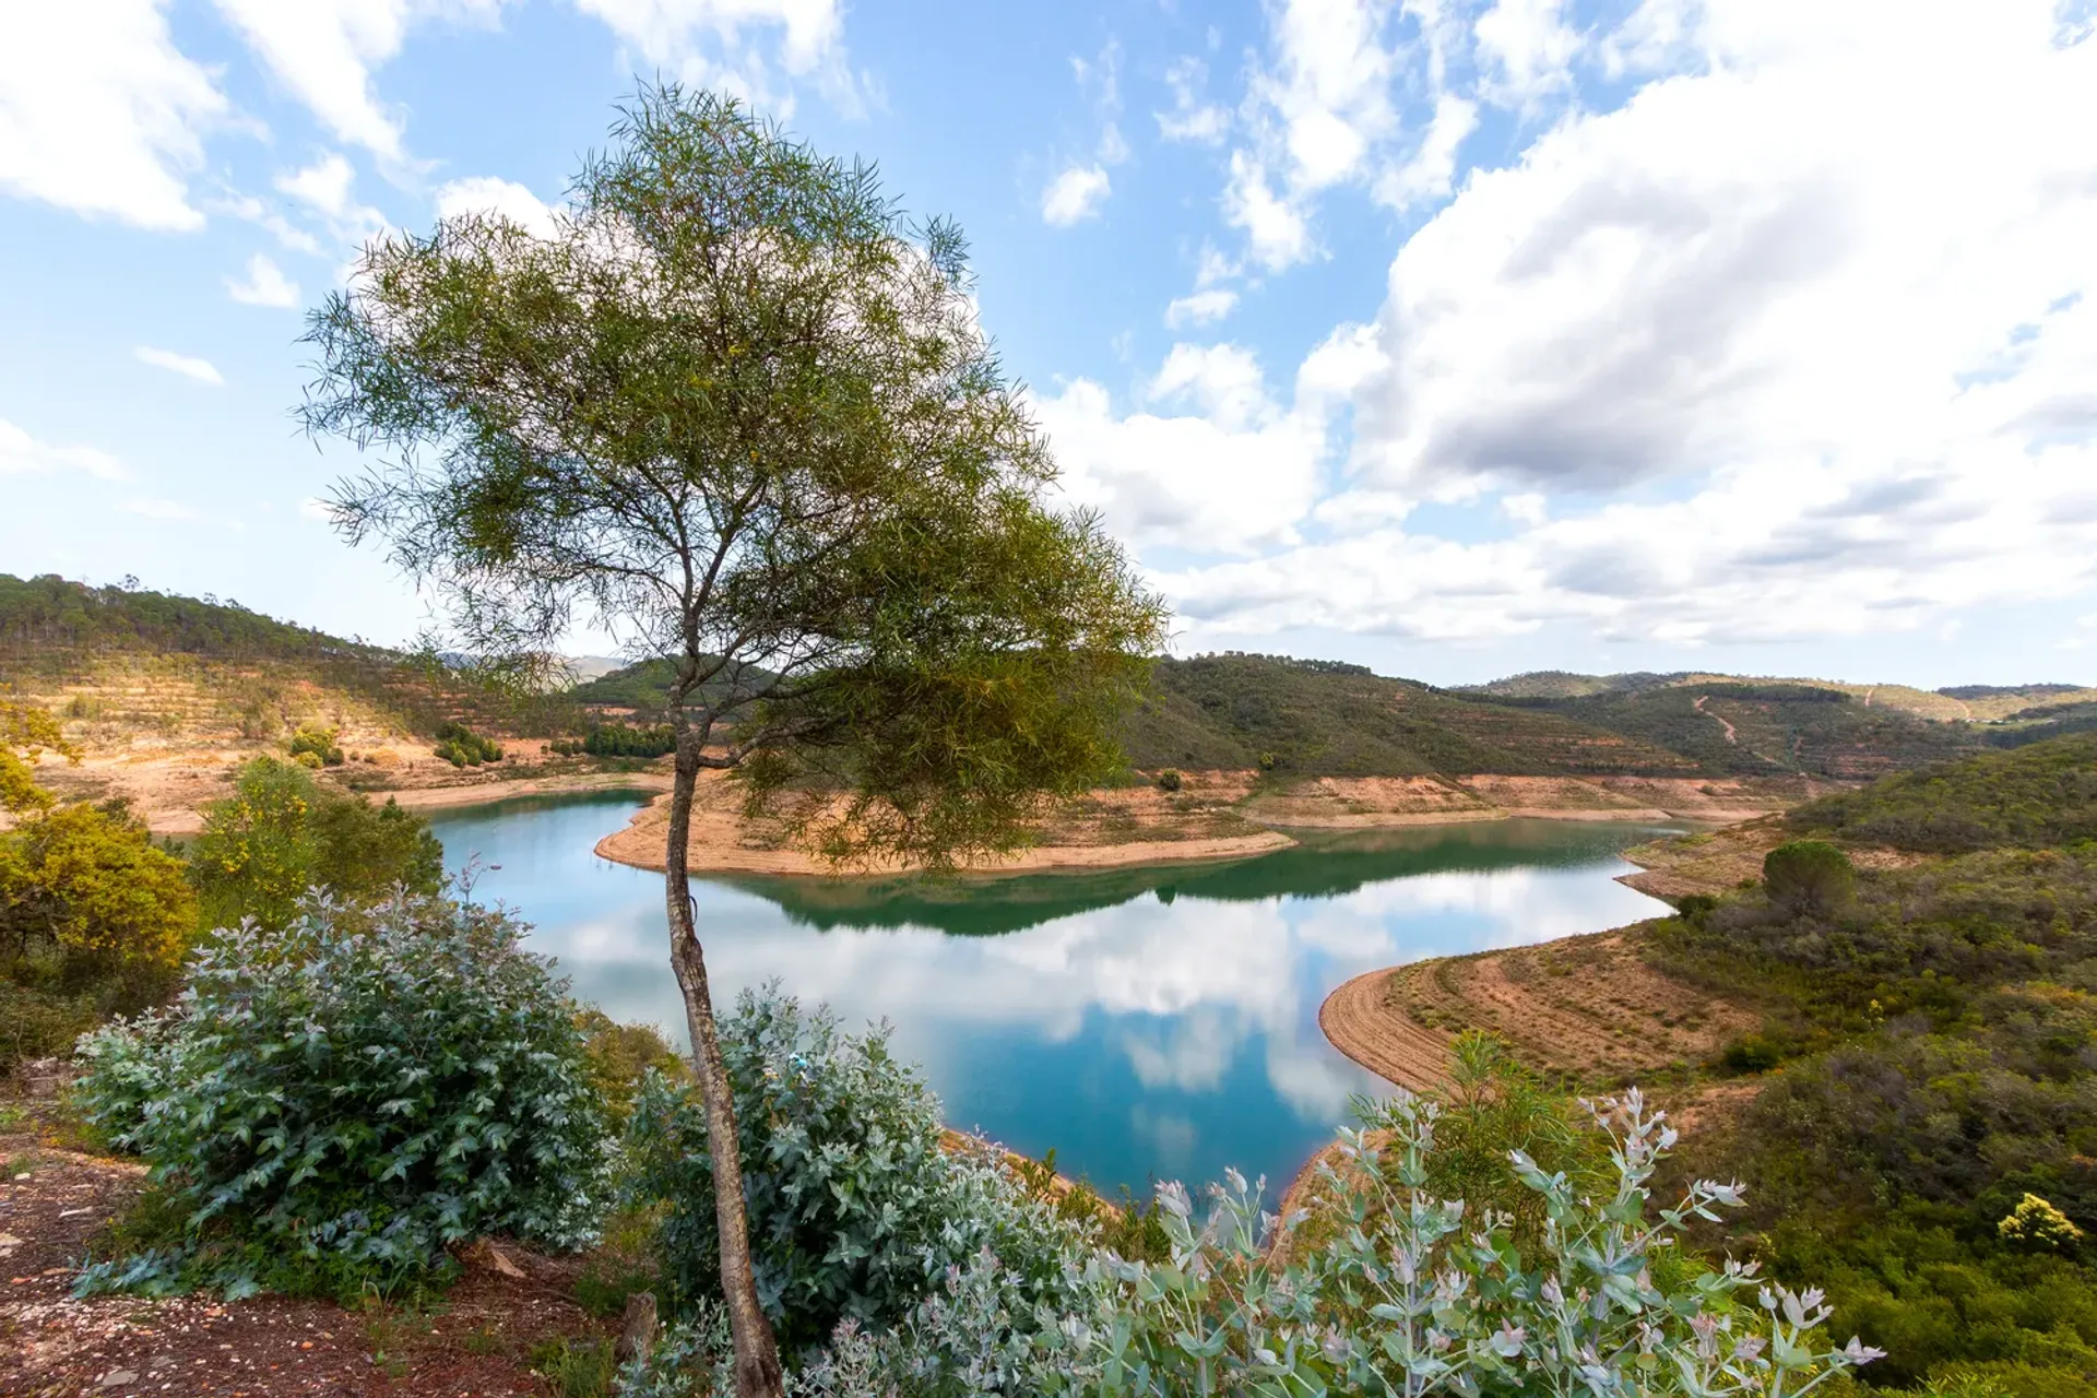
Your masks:
{"label": "large rounded grey-green bush on reddish ground, left of the trunk", "polygon": [[440,897],[201,947],[172,1012],[82,1040],[78,1100],[170,1226],[82,1289],[390,1291],[445,1247],[589,1239],[604,1119],[575,1006],[507,914]]}

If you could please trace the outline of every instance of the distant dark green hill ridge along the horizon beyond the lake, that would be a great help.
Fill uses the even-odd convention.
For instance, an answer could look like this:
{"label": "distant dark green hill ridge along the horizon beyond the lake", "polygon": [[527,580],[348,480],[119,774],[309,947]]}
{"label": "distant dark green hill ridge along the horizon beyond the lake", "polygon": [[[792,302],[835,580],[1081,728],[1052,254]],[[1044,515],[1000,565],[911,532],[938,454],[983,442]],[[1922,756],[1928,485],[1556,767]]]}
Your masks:
{"label": "distant dark green hill ridge along the horizon beyond the lake", "polygon": [[[415,658],[275,620],[237,602],[57,576],[0,574],[0,681],[94,656],[268,662],[384,700],[426,727],[499,721],[484,698]],[[575,658],[579,681],[531,723],[663,717],[669,667]],[[2097,690],[2072,683],[1915,690],[1826,679],[1531,671],[1436,687],[1363,664],[1225,652],[1160,660],[1126,715],[1139,771],[1269,771],[1277,780],[1655,776],[1866,780],[1988,746],[2097,729]],[[552,729],[549,729],[552,731]]]}

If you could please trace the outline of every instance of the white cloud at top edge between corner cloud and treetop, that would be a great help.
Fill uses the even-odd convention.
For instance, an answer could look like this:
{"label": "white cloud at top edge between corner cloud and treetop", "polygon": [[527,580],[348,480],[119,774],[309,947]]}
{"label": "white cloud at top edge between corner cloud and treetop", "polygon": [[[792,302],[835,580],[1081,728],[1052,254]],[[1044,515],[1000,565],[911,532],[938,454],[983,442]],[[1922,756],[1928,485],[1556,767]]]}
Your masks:
{"label": "white cloud at top edge between corner cloud and treetop", "polygon": [[403,119],[371,69],[401,52],[426,19],[493,23],[503,0],[216,0],[226,21],[285,88],[338,138],[401,161]]}

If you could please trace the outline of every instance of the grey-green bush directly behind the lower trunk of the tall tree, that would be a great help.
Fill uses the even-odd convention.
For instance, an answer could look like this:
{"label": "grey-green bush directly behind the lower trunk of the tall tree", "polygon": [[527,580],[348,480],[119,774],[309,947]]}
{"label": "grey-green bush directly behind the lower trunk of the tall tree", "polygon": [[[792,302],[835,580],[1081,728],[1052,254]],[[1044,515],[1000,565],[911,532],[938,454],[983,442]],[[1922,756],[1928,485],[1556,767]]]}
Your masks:
{"label": "grey-green bush directly behind the lower trunk of the tall tree", "polygon": [[[803,1014],[776,991],[744,993],[721,1021],[721,1056],[736,1094],[757,1295],[782,1346],[826,1339],[847,1318],[891,1327],[981,1247],[1030,1297],[1057,1291],[1065,1249],[1084,1235],[1028,1201],[988,1149],[944,1142],[937,1098],[889,1056],[885,1029],[845,1035],[826,1012]],[[667,1203],[671,1304],[717,1299],[713,1170],[696,1096],[652,1073],[627,1146],[635,1191]]]}

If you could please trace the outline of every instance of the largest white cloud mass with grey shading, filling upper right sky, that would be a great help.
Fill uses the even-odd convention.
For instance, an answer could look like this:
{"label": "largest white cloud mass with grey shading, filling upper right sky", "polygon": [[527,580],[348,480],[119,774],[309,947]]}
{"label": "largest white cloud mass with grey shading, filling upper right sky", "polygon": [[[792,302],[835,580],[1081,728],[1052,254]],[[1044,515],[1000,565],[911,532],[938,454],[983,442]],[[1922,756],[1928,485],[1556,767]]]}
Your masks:
{"label": "largest white cloud mass with grey shading, filling upper right sky", "polygon": [[[1933,635],[2097,587],[2097,44],[2045,0],[1707,0],[1667,42],[1692,71],[1405,241],[1327,365],[1329,537],[1162,574],[1197,627]],[[1493,495],[1508,539],[1403,524]]]}

